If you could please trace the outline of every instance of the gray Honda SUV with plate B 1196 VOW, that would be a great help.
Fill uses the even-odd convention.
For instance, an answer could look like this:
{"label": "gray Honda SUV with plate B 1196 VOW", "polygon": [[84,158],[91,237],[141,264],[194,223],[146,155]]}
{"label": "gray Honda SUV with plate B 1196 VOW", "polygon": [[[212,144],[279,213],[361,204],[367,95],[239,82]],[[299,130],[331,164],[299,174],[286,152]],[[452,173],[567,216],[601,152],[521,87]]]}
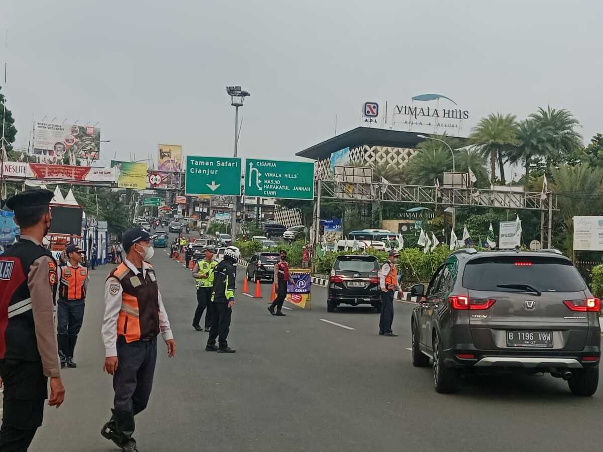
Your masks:
{"label": "gray Honda SUV with plate B 1196 VOW", "polygon": [[560,251],[459,250],[411,296],[412,364],[434,361],[435,391],[455,392],[467,372],[548,372],[595,394],[601,300]]}

